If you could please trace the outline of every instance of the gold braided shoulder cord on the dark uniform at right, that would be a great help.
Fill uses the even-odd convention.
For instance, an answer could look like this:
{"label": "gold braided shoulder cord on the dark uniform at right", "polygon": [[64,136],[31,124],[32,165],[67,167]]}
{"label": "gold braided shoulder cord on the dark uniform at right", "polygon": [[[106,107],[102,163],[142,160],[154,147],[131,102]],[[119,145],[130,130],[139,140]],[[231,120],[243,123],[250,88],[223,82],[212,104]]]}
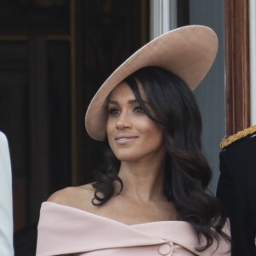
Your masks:
{"label": "gold braided shoulder cord on the dark uniform at right", "polygon": [[230,148],[231,145],[243,142],[247,137],[251,137],[256,134],[256,125],[250,126],[242,131],[238,131],[236,134],[224,137],[219,144],[219,148],[224,150]]}

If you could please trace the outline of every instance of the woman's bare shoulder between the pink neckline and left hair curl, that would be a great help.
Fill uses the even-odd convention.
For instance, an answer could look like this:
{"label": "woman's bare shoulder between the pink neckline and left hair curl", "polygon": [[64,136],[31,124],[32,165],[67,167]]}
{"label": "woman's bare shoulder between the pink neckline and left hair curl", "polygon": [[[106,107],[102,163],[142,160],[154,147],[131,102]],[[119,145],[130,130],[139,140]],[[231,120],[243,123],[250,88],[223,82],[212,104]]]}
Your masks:
{"label": "woman's bare shoulder between the pink neckline and left hair curl", "polygon": [[86,211],[92,205],[91,200],[94,198],[94,192],[95,189],[91,183],[79,187],[68,187],[50,195],[48,201]]}

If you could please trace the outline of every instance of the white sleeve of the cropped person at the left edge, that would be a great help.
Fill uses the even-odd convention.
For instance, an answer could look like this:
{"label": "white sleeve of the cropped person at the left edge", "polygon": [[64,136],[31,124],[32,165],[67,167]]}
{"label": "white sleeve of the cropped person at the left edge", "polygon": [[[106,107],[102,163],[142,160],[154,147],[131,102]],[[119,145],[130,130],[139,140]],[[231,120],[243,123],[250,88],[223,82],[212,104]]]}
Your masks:
{"label": "white sleeve of the cropped person at the left edge", "polygon": [[0,255],[13,256],[12,173],[8,141],[0,131]]}

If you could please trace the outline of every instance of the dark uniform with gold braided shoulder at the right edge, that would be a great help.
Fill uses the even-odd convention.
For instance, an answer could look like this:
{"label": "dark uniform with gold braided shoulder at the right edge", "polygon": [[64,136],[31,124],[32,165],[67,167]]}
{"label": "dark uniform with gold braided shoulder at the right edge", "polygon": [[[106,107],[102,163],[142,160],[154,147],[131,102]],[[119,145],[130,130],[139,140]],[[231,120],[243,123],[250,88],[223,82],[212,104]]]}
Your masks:
{"label": "dark uniform with gold braided shoulder at the right edge", "polygon": [[256,125],[224,138],[220,147],[217,197],[230,218],[231,255],[256,255]]}

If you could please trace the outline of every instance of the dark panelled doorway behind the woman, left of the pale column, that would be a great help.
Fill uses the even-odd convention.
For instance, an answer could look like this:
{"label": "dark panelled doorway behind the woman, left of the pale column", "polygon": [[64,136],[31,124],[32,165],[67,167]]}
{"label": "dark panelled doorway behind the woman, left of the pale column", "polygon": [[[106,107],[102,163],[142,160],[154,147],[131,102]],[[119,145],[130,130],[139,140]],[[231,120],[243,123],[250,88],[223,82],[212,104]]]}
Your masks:
{"label": "dark panelled doorway behind the woman, left of the pale column", "polygon": [[15,230],[58,189],[93,181],[101,143],[86,135],[91,96],[148,42],[148,0],[0,3],[0,130],[9,138]]}

